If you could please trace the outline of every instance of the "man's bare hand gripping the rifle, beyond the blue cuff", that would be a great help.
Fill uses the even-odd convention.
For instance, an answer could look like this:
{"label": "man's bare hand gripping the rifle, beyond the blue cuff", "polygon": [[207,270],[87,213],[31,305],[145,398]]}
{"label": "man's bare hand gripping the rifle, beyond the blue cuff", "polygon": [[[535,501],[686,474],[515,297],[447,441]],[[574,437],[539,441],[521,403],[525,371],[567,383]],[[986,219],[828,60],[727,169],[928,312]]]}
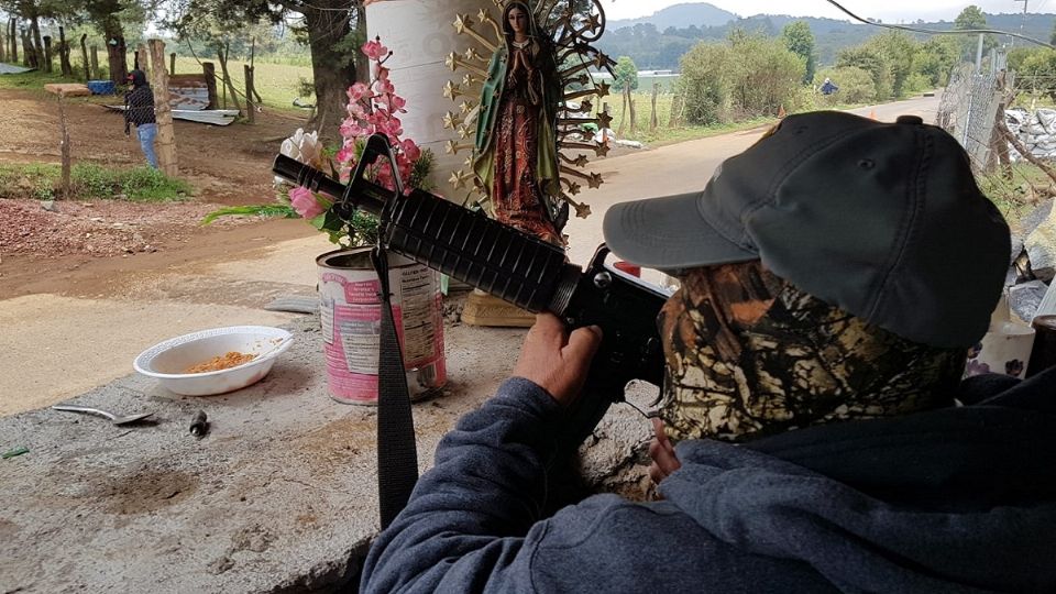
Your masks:
{"label": "man's bare hand gripping the rifle, beyond the blue cuff", "polygon": [[557,316],[539,314],[525,337],[514,375],[536,383],[568,407],[583,389],[591,360],[601,343],[602,329],[596,326],[569,334]]}

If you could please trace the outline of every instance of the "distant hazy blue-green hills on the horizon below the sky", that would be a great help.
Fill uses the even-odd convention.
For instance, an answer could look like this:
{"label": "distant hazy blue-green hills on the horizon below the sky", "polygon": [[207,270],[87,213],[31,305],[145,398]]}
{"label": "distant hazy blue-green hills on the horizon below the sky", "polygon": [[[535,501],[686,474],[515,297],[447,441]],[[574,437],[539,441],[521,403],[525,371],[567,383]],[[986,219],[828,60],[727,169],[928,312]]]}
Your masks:
{"label": "distant hazy blue-green hills on the horizon below the sky", "polygon": [[[726,19],[718,22],[718,19]],[[1056,14],[986,14],[987,28],[1019,33],[1048,42],[1053,34]],[[762,32],[767,35],[780,35],[784,25],[793,21],[806,21],[814,33],[815,51],[818,64],[831,65],[836,54],[844,47],[860,45],[869,37],[883,31],[876,26],[838,21],[835,19],[815,19],[778,14],[758,14],[738,19],[733,13],[707,3],[675,4],[661,10],[652,16],[634,21],[612,21],[597,45],[613,56],[630,56],[635,65],[642,70],[678,69],[679,58],[701,41],[719,42],[729,31],[739,28],[749,32]],[[678,24],[670,24],[678,23]],[[620,26],[620,24],[629,24]],[[953,22],[928,23],[917,21],[912,24],[923,29],[949,30]],[[916,35],[924,40],[926,35]],[[1004,40],[1002,40],[1004,41]],[[1025,42],[1016,42],[1021,46]]]}

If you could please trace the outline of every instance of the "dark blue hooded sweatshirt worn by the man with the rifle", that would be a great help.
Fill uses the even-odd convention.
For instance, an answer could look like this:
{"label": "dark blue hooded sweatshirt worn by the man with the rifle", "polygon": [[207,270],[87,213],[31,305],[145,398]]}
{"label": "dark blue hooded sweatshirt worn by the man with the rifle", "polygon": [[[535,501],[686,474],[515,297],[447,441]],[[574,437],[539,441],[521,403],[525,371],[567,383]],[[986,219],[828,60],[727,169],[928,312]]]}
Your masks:
{"label": "dark blue hooded sweatshirt worn by the man with the rifle", "polygon": [[364,592],[1056,592],[1056,370],[968,406],[733,446],[688,441],[666,501],[542,517],[561,410],[513,378],[437,450]]}

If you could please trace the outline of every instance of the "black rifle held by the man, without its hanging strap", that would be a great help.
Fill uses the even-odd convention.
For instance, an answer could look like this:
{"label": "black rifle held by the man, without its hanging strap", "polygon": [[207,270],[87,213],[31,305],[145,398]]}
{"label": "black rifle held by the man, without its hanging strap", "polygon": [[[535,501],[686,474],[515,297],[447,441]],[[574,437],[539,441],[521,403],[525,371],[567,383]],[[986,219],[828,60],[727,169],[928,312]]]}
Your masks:
{"label": "black rifle held by the man, without its hanging strap", "polygon": [[[380,156],[396,170],[388,140],[375,134],[348,185],[285,155],[275,158],[273,170],[333,197],[331,211],[342,220],[351,220],[356,210],[380,217],[381,248],[534,314],[554,314],[570,328],[598,326],[604,338],[570,411],[565,446],[579,446],[594,430],[609,405],[623,400],[628,382],[661,385],[663,352],[656,318],[668,295],[606,266],[609,251],[604,244],[584,271],[569,263],[560,248],[482,212],[418,189],[404,195],[398,183],[395,190],[383,188],[364,177]],[[381,410],[378,415],[381,422]]]}

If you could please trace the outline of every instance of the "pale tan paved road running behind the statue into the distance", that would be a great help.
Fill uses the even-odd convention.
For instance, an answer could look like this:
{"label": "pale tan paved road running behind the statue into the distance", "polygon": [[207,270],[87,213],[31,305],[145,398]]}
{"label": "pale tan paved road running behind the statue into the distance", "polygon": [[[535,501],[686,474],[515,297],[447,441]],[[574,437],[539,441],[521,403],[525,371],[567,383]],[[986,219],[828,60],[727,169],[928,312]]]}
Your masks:
{"label": "pale tan paved road running behind the statue into the distance", "polygon": [[[877,119],[899,114],[933,121],[938,99],[876,108]],[[858,110],[868,116],[871,109]],[[762,130],[725,134],[598,161],[601,190],[583,197],[594,215],[573,220],[570,257],[584,264],[602,242],[609,206],[638,198],[700,190],[723,160],[751,145]],[[290,221],[292,224],[300,224]],[[261,238],[262,240],[264,238]],[[328,251],[321,237],[261,248],[232,260],[217,254],[143,275],[120,295],[91,299],[32,295],[0,301],[0,416],[47,406],[132,373],[132,359],[174,336],[232,324],[277,324],[292,315],[263,311],[277,295],[311,295],[315,257]],[[658,282],[658,275],[647,274]]]}

